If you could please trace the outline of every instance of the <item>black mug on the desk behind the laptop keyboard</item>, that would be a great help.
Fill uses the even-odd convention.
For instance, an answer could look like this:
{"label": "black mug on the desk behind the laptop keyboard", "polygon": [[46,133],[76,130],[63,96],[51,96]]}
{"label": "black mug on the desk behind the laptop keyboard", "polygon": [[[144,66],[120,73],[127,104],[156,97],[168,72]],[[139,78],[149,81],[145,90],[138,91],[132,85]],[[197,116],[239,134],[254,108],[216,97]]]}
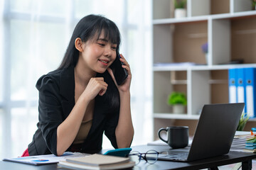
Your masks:
{"label": "black mug on the desk behind the laptop keyboard", "polygon": [[[166,131],[167,140],[161,137],[161,131]],[[173,149],[188,146],[188,126],[171,126],[161,128],[158,132],[160,140],[166,142]]]}

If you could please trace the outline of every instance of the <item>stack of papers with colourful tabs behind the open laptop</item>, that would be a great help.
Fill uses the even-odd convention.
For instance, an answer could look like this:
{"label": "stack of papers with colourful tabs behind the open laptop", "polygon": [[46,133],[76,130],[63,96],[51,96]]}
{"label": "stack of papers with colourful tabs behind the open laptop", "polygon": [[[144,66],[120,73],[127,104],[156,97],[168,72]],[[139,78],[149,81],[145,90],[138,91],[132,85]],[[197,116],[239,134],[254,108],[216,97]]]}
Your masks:
{"label": "stack of papers with colourful tabs behind the open laptop", "polygon": [[256,153],[256,136],[253,132],[237,131],[231,145],[232,151]]}

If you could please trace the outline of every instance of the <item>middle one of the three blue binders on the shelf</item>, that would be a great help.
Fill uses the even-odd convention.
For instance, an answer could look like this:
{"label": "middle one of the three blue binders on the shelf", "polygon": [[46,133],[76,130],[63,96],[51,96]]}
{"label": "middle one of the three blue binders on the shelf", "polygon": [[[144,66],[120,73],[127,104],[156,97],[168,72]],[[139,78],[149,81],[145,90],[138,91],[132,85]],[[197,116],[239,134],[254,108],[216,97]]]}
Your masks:
{"label": "middle one of the three blue binders on the shelf", "polygon": [[[244,68],[236,69],[238,103],[246,103],[246,96],[245,96],[245,73],[244,73],[244,71],[245,71]],[[247,113],[246,104],[245,104],[244,111],[245,111],[245,113]]]}

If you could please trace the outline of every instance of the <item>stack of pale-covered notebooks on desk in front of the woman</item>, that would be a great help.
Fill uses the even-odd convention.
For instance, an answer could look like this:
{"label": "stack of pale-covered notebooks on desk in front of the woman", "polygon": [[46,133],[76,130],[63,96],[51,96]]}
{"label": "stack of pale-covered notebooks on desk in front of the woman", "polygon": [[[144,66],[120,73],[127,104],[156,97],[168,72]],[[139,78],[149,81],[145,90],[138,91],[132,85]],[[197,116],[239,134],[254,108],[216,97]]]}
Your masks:
{"label": "stack of pale-covered notebooks on desk in front of the woman", "polygon": [[102,154],[67,158],[65,161],[58,163],[59,167],[65,169],[127,169],[134,165],[135,162],[131,162],[129,157],[114,157]]}

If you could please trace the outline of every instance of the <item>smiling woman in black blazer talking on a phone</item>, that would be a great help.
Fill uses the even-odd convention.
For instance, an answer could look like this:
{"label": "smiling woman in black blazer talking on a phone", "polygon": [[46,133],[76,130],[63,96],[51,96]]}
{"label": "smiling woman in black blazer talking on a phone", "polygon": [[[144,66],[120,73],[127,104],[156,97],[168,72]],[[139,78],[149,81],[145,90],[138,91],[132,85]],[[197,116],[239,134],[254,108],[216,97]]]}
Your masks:
{"label": "smiling woman in black blazer talking on a phone", "polygon": [[109,19],[90,15],[79,21],[60,67],[38,79],[38,130],[23,156],[96,153],[103,132],[114,148],[131,145],[131,70],[121,55],[129,75],[118,86],[109,68],[119,45],[119,30]]}

